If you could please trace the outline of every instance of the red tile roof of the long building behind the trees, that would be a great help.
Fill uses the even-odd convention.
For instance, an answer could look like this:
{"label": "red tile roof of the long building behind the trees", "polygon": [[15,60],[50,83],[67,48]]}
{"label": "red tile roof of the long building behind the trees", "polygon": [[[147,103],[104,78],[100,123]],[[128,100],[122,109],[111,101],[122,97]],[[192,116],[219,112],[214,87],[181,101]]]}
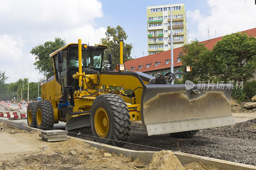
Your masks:
{"label": "red tile roof of the long building behind the trees", "polygon": [[[247,35],[256,37],[256,28],[241,31],[241,33],[244,33],[244,32],[246,32]],[[221,39],[222,37],[218,37],[218,38],[213,38],[206,41],[201,41],[199,43],[204,43],[207,49],[212,49],[213,46],[216,44],[216,42],[220,41]],[[179,52],[181,51],[182,51],[182,47],[173,49],[174,67],[182,65],[181,62],[177,62],[178,60],[177,58],[179,58]],[[131,67],[135,67],[133,71],[148,72],[153,70],[171,68],[171,61],[168,64],[165,64],[165,60],[171,60],[171,50],[132,59],[132,60],[126,61],[124,64],[125,64],[125,69],[129,69],[129,71],[131,70]],[[155,66],[155,62],[160,62],[160,64]],[[151,64],[151,65],[148,68],[146,68],[147,64]],[[139,66],[142,66],[140,70],[139,70]]]}

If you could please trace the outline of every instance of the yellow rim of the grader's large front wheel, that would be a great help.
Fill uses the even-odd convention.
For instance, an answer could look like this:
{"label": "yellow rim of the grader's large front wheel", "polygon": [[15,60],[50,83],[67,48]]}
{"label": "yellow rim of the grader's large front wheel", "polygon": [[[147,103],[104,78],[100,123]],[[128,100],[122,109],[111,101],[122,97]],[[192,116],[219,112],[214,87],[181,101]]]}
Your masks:
{"label": "yellow rim of the grader's large front wheel", "polygon": [[108,135],[109,120],[106,110],[99,107],[94,115],[94,127],[99,137],[106,137]]}

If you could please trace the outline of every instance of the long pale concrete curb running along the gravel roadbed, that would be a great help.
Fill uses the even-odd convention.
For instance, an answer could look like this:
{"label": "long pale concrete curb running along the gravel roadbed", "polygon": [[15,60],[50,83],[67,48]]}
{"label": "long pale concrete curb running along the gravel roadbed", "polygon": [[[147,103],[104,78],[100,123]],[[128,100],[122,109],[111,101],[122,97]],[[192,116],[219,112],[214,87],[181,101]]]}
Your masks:
{"label": "long pale concrete curb running along the gravel roadbed", "polygon": [[[29,132],[31,132],[32,130],[42,131],[40,129],[31,128],[22,123],[12,122],[12,121],[1,119],[1,118],[0,118],[0,122],[7,123],[16,128],[25,129]],[[84,141],[84,142],[86,142],[96,148],[99,148],[99,149],[106,149],[109,153],[111,153],[111,152],[115,152],[116,154],[122,153],[125,156],[132,156],[132,159],[139,158],[140,160],[143,160],[145,163],[150,163],[152,156],[155,153],[153,151],[134,151],[134,150],[124,149],[124,148],[119,148],[116,146],[111,146],[108,144],[100,144],[97,142],[84,140],[84,139],[80,139],[77,137],[71,137],[71,136],[67,136],[67,137],[74,138],[74,139],[77,139],[80,141]],[[226,160],[221,160],[221,159],[208,158],[208,157],[204,157],[204,156],[192,155],[192,154],[182,153],[182,152],[173,152],[173,154],[180,160],[180,163],[182,165],[189,164],[191,162],[202,162],[205,166],[215,166],[222,170],[224,170],[224,169],[225,170],[230,170],[230,169],[232,169],[232,170],[253,170],[253,169],[256,170],[256,166],[247,165],[247,164],[241,164],[241,163],[236,163],[236,162],[231,162],[231,161],[226,161]]]}

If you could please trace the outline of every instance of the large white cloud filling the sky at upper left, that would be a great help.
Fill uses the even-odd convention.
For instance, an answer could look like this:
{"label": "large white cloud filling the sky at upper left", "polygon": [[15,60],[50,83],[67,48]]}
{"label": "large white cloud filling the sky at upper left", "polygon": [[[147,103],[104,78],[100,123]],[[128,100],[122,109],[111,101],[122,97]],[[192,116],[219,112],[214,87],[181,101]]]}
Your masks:
{"label": "large white cloud filling the sky at upper left", "polygon": [[98,0],[0,0],[0,70],[7,82],[29,77],[37,81],[42,74],[35,70],[31,48],[59,36],[67,43],[99,43],[106,28],[96,27],[95,18],[103,16]]}

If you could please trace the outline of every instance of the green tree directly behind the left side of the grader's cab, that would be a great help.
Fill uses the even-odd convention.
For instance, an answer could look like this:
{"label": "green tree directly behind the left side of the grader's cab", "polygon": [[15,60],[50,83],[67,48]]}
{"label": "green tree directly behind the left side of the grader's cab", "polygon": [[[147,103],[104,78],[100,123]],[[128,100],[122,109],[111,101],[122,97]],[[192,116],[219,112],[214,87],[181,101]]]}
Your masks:
{"label": "green tree directly behind the left side of the grader's cab", "polygon": [[36,70],[39,70],[45,78],[54,74],[52,66],[52,58],[49,56],[52,52],[66,45],[66,41],[55,37],[55,41],[46,41],[44,44],[39,44],[38,46],[31,49],[30,53],[35,55]]}

